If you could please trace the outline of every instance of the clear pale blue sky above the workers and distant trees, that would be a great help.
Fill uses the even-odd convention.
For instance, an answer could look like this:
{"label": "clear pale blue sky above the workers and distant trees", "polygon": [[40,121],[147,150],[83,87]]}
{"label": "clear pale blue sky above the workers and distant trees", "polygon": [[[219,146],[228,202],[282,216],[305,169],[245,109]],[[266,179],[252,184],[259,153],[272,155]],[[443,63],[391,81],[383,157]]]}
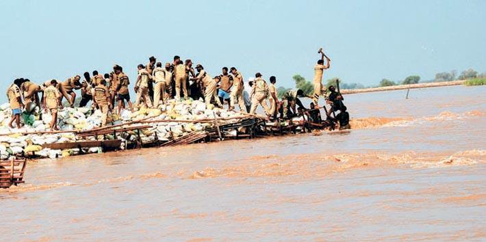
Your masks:
{"label": "clear pale blue sky above the workers and distant trees", "polygon": [[[235,66],[277,86],[308,80],[323,47],[323,80],[376,85],[383,78],[486,71],[486,1],[0,1],[0,88],[42,83],[114,64],[135,81],[151,55]],[[4,98],[1,95],[0,98]],[[2,99],[2,100],[4,100]]]}

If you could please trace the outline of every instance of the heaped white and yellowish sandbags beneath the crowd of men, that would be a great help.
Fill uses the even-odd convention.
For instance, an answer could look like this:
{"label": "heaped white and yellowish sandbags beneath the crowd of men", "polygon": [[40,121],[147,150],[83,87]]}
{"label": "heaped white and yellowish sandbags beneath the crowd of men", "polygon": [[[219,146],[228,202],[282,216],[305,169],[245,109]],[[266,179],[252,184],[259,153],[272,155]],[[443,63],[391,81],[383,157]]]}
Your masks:
{"label": "heaped white and yellowish sandbags beneath the crowd of men", "polygon": [[[41,119],[42,116],[42,119]],[[240,113],[215,108],[213,105],[206,105],[202,100],[169,100],[165,105],[159,105],[157,109],[140,109],[133,113],[123,110],[120,116],[112,115],[111,124],[123,124],[133,120],[151,118],[151,120],[201,120],[212,118],[241,117]],[[11,118],[11,110],[8,103],[0,105],[0,159],[9,159],[14,155],[27,152],[35,152],[40,157],[66,157],[79,152],[78,149],[71,150],[51,150],[42,148],[43,144],[75,142],[79,140],[94,140],[96,137],[86,137],[79,139],[75,133],[55,133],[55,134],[28,134],[22,133],[35,131],[49,131],[52,116],[49,113],[40,111],[38,107],[32,114],[23,114],[21,122],[24,124],[21,129],[10,129],[8,122]],[[71,108],[66,107],[58,111],[58,126],[62,131],[91,130],[101,126],[101,111],[96,110],[91,113],[91,109],[86,107]],[[110,120],[110,118],[109,118]],[[30,125],[29,125],[30,124]],[[131,124],[132,126],[140,124]],[[191,123],[191,122],[153,122],[149,123],[150,129],[145,129],[140,133],[142,142],[153,142],[155,133],[160,141],[169,141],[181,137],[193,131],[202,131],[212,124]],[[14,124],[15,126],[15,124]],[[129,135],[123,137],[113,137],[106,135],[107,139],[122,139],[121,149],[127,146],[127,142],[134,142],[137,138],[135,131],[129,132],[130,140],[126,140]],[[100,152],[101,148],[89,148],[84,152]]]}

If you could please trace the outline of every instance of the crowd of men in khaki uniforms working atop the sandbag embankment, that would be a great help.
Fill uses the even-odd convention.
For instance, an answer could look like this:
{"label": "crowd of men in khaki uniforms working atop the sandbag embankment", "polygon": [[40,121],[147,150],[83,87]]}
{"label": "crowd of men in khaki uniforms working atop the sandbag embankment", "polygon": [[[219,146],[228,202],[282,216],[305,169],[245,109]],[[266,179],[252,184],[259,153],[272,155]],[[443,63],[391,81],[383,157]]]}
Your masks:
{"label": "crowd of men in khaki uniforms working atop the sandbag embankment", "polygon": [[[238,104],[241,112],[252,114],[255,114],[258,105],[261,105],[268,118],[272,120],[291,118],[297,113],[296,105],[304,111],[318,110],[319,97],[326,97],[326,89],[322,86],[322,74],[329,68],[330,59],[326,57],[327,65],[324,66],[324,57],[326,56],[322,53],[322,58],[318,60],[318,64],[314,68],[314,96],[307,96],[314,102],[314,108],[310,110],[305,109],[298,99],[298,97],[305,96],[302,90],[287,92],[279,100],[277,88],[275,88],[277,78],[274,76],[270,77],[268,84],[261,73],[257,72],[254,79],[248,80],[248,85],[251,87],[251,92],[248,94],[244,88],[244,78],[235,67],[223,67],[220,75],[212,77],[201,64],[195,66],[196,72],[192,67],[191,59],[183,62],[176,55],[172,63],[163,65],[152,56],[149,57],[149,63],[145,66],[138,65],[138,75],[134,87],[136,100],[133,105],[129,94],[129,77],[118,65],[114,65],[112,72],[105,75],[99,74],[97,70],[92,72],[92,76],[89,72],[84,72],[83,81],[79,75],[63,82],[52,79],[42,85],[32,83],[29,79],[16,79],[7,92],[12,109],[12,120],[10,120],[9,126],[13,128],[12,124],[15,121],[17,127],[20,127],[20,115],[23,108],[31,111],[31,107],[37,105],[43,107],[45,111],[51,112],[53,116],[51,130],[57,130],[57,109],[63,107],[63,98],[66,98],[70,107],[74,107],[75,90],[81,90],[79,107],[86,107],[92,101],[91,108],[101,110],[102,126],[107,124],[108,113],[114,112],[115,104],[118,104],[117,113],[120,114],[121,109],[125,109],[127,105],[131,111],[141,107],[157,108],[170,98],[176,100],[203,98],[208,105],[213,104],[217,107],[223,107],[223,104],[227,103],[229,110],[235,109],[235,104]],[[330,117],[331,113],[338,110],[346,113],[346,107],[342,105],[342,96],[335,92],[333,87],[329,90],[331,90],[331,94],[329,94],[329,99],[326,98],[327,102],[331,104],[331,109],[327,111],[327,116]],[[42,98],[39,98],[39,94],[42,94]],[[270,107],[266,103],[267,100]],[[338,116],[339,114],[335,118]]]}

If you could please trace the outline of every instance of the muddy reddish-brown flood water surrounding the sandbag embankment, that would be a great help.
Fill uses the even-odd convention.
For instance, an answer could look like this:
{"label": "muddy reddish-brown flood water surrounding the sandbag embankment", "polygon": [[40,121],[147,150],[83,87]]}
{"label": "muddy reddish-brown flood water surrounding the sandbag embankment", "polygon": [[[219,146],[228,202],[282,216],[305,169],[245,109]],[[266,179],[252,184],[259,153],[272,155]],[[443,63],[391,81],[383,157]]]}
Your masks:
{"label": "muddy reddish-brown flood water surrounding the sandbag embankment", "polygon": [[406,92],[345,96],[348,132],[33,161],[0,240],[485,241],[486,87]]}

